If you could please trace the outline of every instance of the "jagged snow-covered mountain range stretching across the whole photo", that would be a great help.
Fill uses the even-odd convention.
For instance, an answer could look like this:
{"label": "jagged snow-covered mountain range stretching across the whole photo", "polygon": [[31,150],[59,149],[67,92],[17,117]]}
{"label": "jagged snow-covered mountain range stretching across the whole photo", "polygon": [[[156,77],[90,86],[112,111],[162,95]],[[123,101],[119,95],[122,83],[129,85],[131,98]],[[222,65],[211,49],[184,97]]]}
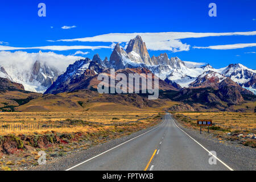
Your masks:
{"label": "jagged snow-covered mountain range stretching across the whole photo", "polygon": [[[145,68],[179,90],[203,85],[216,88],[216,82],[230,78],[236,84],[256,93],[256,71],[253,69],[242,64],[229,64],[225,68],[214,69],[209,64],[181,61],[179,57],[169,58],[167,53],[150,57],[141,36],[131,39],[126,49],[117,43],[109,60],[108,57],[101,60],[96,54],[92,60],[85,58],[75,61],[63,74],[46,62],[36,60],[26,71],[19,71],[15,67],[0,67],[0,77],[22,84],[28,91],[53,93],[57,89],[59,93],[68,91],[65,88],[74,85],[79,88],[78,82],[81,84],[82,80],[90,79],[109,68]],[[208,77],[211,79],[207,79]]]}

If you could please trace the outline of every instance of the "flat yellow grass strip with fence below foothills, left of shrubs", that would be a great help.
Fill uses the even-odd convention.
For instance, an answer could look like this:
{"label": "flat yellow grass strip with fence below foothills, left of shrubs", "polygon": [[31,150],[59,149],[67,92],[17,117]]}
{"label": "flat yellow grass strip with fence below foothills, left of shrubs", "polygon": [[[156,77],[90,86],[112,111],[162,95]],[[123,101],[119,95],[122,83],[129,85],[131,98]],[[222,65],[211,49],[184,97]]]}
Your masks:
{"label": "flat yellow grass strip with fence below foothills, left of shrubs", "polygon": [[[4,130],[0,128],[0,135],[6,134],[31,134],[35,131],[37,133],[44,133],[46,131],[56,131],[57,133],[71,133],[71,132],[86,132],[93,131],[92,126],[88,125],[70,125],[71,122],[96,122],[102,123],[103,125],[115,125],[118,123],[135,122],[138,119],[147,118],[152,115],[157,115],[156,112],[145,112],[145,113],[105,113],[105,112],[47,112],[47,113],[0,113],[0,127],[1,125],[13,128],[20,124],[28,125],[29,127],[36,127],[40,124],[54,125],[56,123],[64,123],[61,127],[52,127],[49,129],[37,128],[28,130],[26,127],[21,130]],[[150,118],[149,118],[150,119]],[[148,119],[142,119],[140,122],[146,122]],[[81,122],[79,122],[81,123]],[[109,126],[104,126],[108,128]]]}

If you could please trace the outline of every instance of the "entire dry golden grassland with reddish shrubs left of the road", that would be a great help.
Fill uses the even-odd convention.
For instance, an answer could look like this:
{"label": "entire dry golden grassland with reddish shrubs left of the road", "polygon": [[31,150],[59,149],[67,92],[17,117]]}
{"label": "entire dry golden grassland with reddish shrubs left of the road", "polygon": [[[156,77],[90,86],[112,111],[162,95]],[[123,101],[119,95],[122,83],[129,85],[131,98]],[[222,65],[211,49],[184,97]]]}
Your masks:
{"label": "entire dry golden grassland with reddish shrubs left of the road", "polygon": [[[7,120],[9,123],[69,122],[68,126],[61,128],[40,131],[23,130],[16,131],[15,133],[5,132],[0,134],[0,171],[24,170],[38,166],[38,152],[42,150],[47,154],[47,163],[50,163],[51,160],[59,156],[65,156],[69,152],[86,150],[99,143],[104,143],[108,140],[154,126],[162,121],[162,114],[154,112],[0,113],[0,125],[1,122],[6,122]],[[138,121],[138,119],[141,120]],[[97,125],[84,121],[103,124]],[[137,122],[114,125],[114,123],[125,123],[129,121]],[[109,125],[110,123],[113,123],[113,125]],[[1,150],[3,146],[5,147],[5,151]]]}

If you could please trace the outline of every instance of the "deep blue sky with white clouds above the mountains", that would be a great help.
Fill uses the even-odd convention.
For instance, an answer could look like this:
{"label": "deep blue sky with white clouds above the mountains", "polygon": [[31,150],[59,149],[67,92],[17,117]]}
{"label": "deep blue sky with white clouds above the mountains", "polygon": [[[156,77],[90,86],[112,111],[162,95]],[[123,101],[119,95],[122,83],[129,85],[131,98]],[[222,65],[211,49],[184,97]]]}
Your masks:
{"label": "deep blue sky with white clouds above the mountains", "polygon": [[[38,4],[41,2],[46,4],[46,17],[38,16]],[[212,2],[217,5],[217,17],[208,15],[208,5]],[[62,55],[82,51],[89,53],[77,56],[92,58],[95,53],[99,53],[104,59],[105,56],[110,57],[110,45],[122,42],[125,46],[131,36],[127,33],[137,32],[141,33],[146,42],[150,56],[166,52],[169,57],[178,56],[185,61],[209,63],[214,68],[241,63],[256,69],[255,7],[254,0],[1,1],[0,49],[11,52],[19,49],[38,52],[42,49],[43,52],[53,51]],[[75,27],[63,29],[63,26]],[[146,32],[159,35],[143,34]],[[161,32],[170,34],[163,35]],[[184,37],[182,32],[191,33]],[[200,32],[233,34],[210,34],[198,38],[198,34],[194,33]],[[241,35],[234,32],[244,33]],[[110,40],[111,33],[120,34],[113,34]],[[85,39],[72,40],[77,38]],[[158,38],[161,38],[159,42]],[[237,46],[234,48],[233,44]],[[46,49],[43,46],[50,47]],[[59,51],[56,51],[51,46],[75,47],[68,47],[69,50],[59,47]],[[87,47],[72,49],[76,46]]]}

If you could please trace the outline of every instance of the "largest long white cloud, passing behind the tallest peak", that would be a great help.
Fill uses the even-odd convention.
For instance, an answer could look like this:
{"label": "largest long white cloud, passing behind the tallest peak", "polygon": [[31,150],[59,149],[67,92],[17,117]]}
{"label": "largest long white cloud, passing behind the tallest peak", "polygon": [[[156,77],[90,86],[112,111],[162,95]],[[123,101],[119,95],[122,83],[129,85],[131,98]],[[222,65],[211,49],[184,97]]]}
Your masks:
{"label": "largest long white cloud, passing behind the tallest peak", "polygon": [[[195,33],[195,32],[158,32],[158,33],[111,33],[78,39],[60,39],[56,42],[129,42],[130,39],[140,35],[150,50],[188,51],[190,45],[182,43],[180,39],[204,38],[209,36],[256,35],[250,32],[225,32],[225,33]],[[51,40],[52,42],[53,40]]]}

